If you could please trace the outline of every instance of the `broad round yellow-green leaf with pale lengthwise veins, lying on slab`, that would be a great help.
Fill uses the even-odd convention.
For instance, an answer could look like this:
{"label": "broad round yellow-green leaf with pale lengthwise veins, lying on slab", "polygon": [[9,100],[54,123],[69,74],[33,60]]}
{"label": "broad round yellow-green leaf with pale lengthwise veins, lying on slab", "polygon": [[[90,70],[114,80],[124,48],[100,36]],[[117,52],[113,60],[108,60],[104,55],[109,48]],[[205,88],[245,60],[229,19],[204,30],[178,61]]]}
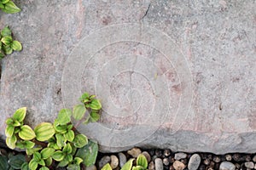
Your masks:
{"label": "broad round yellow-green leaf with pale lengthwise veins, lying on slab", "polygon": [[53,137],[55,134],[55,128],[49,122],[42,122],[35,127],[35,133],[39,141],[46,141]]}

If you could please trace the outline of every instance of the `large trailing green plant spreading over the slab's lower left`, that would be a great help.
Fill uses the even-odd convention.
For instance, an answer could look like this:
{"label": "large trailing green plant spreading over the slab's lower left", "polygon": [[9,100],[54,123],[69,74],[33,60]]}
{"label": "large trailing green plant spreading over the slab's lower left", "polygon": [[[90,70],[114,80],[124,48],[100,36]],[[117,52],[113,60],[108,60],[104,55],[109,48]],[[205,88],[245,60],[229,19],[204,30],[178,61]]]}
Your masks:
{"label": "large trailing green plant spreading over the slab's lower left", "polygon": [[[96,122],[100,118],[102,105],[95,95],[84,93],[73,110],[62,109],[55,122],[42,122],[34,129],[24,124],[26,107],[15,111],[14,116],[6,120],[6,144],[10,149],[26,150],[27,161],[20,163],[22,170],[52,169],[57,167],[80,169],[95,164],[98,152],[96,142],[88,141],[76,127],[79,123]],[[78,121],[73,126],[72,119]]]}

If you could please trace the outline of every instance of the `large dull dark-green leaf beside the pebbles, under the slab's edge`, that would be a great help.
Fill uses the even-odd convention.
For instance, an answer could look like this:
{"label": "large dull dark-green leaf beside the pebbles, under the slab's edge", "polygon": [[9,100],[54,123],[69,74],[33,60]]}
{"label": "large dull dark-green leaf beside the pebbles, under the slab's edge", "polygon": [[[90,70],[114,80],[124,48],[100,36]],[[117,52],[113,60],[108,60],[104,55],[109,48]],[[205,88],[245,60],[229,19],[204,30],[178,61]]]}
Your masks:
{"label": "large dull dark-green leaf beside the pebbles, under the slab's edge", "polygon": [[78,150],[76,157],[83,159],[84,165],[86,167],[90,167],[91,165],[95,164],[97,154],[98,144],[90,140],[87,145]]}

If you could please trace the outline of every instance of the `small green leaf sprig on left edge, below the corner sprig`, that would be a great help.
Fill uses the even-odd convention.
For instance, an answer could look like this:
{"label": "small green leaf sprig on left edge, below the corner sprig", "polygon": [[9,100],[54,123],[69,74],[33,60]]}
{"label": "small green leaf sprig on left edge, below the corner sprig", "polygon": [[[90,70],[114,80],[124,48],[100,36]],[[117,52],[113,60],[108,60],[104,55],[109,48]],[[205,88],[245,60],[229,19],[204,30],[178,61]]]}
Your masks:
{"label": "small green leaf sprig on left edge, below the corner sprig", "polygon": [[0,59],[3,59],[7,54],[12,54],[14,51],[20,51],[21,49],[21,43],[14,40],[9,26],[5,26],[3,30],[0,31]]}

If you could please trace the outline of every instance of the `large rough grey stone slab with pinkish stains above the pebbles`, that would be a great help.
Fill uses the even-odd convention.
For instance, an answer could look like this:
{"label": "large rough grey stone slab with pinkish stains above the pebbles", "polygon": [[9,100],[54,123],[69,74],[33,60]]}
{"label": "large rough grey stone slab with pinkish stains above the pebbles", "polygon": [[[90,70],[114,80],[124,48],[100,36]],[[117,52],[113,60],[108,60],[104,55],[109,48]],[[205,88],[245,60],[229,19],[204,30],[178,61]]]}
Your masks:
{"label": "large rough grey stone slab with pinkish stains above the pebbles", "polygon": [[[21,106],[28,108],[30,125],[52,122],[61,108],[77,101],[77,94],[66,95],[68,80],[76,78],[71,90],[102,99],[105,112],[96,126],[111,133],[99,138],[92,125],[80,129],[98,139],[102,151],[136,145],[256,152],[255,1],[16,3],[19,14],[0,12],[0,27],[9,25],[23,43],[21,53],[1,63],[0,135],[4,120]],[[104,34],[94,33],[99,29]],[[79,52],[86,62],[73,58]],[[67,74],[79,64],[81,72]]]}

